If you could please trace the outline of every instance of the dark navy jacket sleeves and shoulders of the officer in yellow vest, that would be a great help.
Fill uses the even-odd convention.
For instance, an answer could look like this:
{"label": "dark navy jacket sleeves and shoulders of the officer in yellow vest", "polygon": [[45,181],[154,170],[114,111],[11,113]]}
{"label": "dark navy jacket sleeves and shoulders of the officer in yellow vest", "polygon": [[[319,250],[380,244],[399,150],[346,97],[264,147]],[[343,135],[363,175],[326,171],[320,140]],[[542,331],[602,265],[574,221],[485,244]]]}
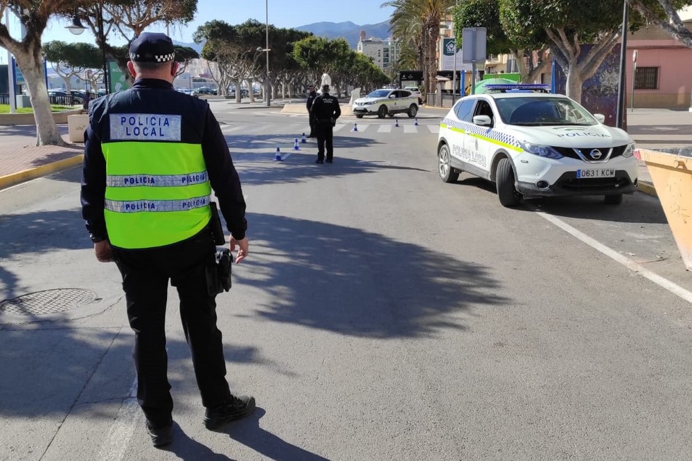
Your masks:
{"label": "dark navy jacket sleeves and shoulders of the officer in yellow vest", "polygon": [[245,198],[238,172],[219,123],[206,100],[173,90],[165,80],[136,80],[131,89],[109,94],[89,103],[89,125],[85,131],[82,165],[82,217],[87,230],[96,237],[107,237],[103,208],[106,191],[106,161],[101,142],[110,140],[109,114],[173,114],[182,116],[181,140],[199,143],[211,188],[218,197],[221,212],[231,235],[245,237]]}

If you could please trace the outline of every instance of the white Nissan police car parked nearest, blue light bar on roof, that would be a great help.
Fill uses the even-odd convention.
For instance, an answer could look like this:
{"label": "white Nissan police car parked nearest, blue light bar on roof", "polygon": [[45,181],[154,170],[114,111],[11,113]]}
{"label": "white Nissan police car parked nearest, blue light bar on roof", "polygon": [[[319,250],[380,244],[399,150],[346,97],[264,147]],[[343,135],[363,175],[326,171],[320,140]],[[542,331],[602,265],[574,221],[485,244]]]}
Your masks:
{"label": "white Nissan police car parked nearest, blue light bar on roof", "polygon": [[[603,195],[620,204],[637,190],[635,143],[574,100],[535,93],[545,85],[488,85],[442,120],[438,172],[451,183],[469,172],[496,183],[503,206],[523,198]],[[527,92],[528,91],[528,92]]]}

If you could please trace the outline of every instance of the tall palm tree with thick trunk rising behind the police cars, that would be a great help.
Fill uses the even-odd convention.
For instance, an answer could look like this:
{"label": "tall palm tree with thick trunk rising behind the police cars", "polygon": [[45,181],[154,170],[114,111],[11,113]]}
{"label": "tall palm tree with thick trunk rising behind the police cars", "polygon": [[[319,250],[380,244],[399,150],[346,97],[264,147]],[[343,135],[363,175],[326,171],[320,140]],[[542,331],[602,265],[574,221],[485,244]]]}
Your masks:
{"label": "tall palm tree with thick trunk rising behind the police cars", "polygon": [[437,74],[437,42],[440,22],[450,13],[456,0],[390,0],[382,6],[393,6],[391,32],[394,38],[414,44],[420,50],[425,89],[434,91]]}

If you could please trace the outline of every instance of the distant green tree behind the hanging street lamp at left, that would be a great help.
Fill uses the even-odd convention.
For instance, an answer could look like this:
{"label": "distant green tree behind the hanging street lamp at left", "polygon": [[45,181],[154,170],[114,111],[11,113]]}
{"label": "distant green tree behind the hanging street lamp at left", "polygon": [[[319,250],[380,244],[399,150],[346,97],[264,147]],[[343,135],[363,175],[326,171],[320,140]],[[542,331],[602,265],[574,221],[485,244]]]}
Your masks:
{"label": "distant green tree behind the hanging street lamp at left", "polygon": [[[46,61],[52,62],[53,69],[65,81],[65,89],[70,92],[70,79],[75,75],[85,78],[87,69],[99,69],[103,56],[96,46],[87,43],[65,43],[60,40],[43,45]],[[86,79],[88,80],[88,79]]]}

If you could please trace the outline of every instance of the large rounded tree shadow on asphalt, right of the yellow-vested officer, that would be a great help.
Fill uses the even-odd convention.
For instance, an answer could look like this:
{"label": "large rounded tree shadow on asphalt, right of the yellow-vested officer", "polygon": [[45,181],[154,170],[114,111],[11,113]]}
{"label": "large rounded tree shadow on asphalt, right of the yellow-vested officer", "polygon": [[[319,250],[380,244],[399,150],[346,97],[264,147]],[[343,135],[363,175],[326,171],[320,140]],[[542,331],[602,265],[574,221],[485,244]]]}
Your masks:
{"label": "large rounded tree shadow on asphalt, right of the yellow-vested officer", "polygon": [[[251,214],[252,278],[269,292],[258,315],[373,338],[463,331],[463,316],[507,305],[489,269],[357,228]],[[245,263],[244,263],[245,264]],[[258,275],[263,275],[258,277]]]}

